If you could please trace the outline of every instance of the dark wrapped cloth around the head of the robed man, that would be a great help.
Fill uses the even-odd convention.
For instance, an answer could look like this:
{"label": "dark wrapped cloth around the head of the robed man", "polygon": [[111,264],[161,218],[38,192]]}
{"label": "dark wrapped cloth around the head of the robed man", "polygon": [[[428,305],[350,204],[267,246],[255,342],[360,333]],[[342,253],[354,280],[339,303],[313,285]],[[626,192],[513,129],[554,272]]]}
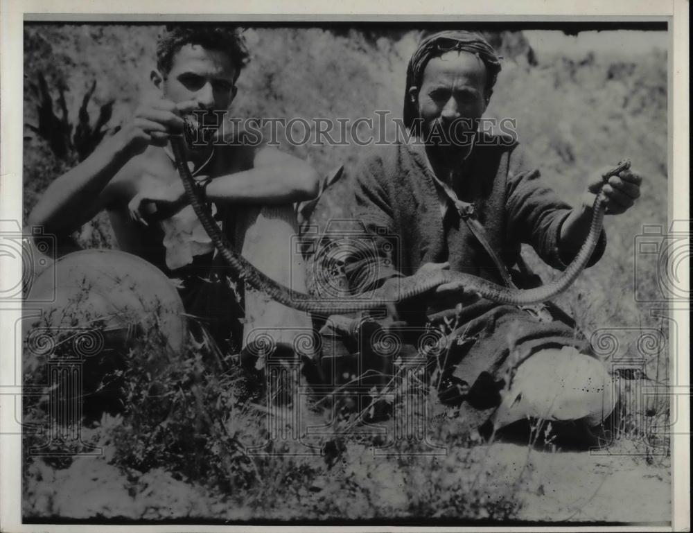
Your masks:
{"label": "dark wrapped cloth around the head of the robed man", "polygon": [[409,60],[407,67],[407,86],[404,92],[404,125],[410,130],[414,126],[419,112],[416,102],[412,102],[409,89],[412,86],[421,87],[423,71],[430,60],[451,50],[476,55],[486,66],[486,73],[488,74],[486,89],[491,89],[495,84],[495,79],[500,72],[500,56],[495,53],[493,46],[478,33],[465,30],[446,30],[424,37]]}

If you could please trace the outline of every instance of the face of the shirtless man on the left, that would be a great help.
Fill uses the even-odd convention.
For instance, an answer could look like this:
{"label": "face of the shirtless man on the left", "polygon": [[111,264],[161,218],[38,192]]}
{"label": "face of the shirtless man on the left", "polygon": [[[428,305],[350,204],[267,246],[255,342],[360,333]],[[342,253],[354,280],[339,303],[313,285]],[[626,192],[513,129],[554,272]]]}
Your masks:
{"label": "face of the shirtless man on the left", "polygon": [[174,55],[162,90],[175,103],[192,100],[200,110],[226,111],[236,95],[235,75],[228,53],[186,44]]}

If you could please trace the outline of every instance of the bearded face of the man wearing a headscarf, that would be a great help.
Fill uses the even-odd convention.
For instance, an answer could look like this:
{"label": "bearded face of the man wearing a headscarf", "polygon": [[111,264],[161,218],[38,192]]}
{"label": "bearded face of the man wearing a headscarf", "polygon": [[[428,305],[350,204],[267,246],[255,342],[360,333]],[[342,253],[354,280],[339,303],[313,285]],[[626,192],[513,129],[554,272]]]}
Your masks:
{"label": "bearded face of the man wearing a headscarf", "polygon": [[472,53],[446,52],[426,64],[415,96],[425,138],[441,132],[448,143],[466,144],[486,110],[486,67]]}

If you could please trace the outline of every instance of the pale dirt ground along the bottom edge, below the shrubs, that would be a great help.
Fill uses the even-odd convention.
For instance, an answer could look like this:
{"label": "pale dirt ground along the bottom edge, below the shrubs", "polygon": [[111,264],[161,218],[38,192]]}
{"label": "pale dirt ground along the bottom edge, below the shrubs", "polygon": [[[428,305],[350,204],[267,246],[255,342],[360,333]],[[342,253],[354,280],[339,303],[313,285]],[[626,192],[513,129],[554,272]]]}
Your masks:
{"label": "pale dirt ground along the bottom edge, below the shrubs", "polygon": [[[307,506],[318,507],[340,498],[344,480],[352,478],[358,479],[362,493],[370,495],[369,501],[355,498],[349,515],[340,518],[376,518],[374,508],[394,518],[426,518],[412,514],[411,505],[412,487],[420,492],[419,497],[428,491],[424,471],[415,466],[398,467],[365,449],[354,450],[353,457],[358,460],[345,460],[341,469],[326,471],[305,487],[301,506],[274,503],[270,513],[258,513],[253,502],[239,506],[161,469],[128,476],[107,464],[105,457],[82,457],[64,470],[36,462],[27,480],[30,488],[24,514],[67,520],[314,520],[317,517],[306,516],[301,509],[305,512]],[[514,521],[665,525],[671,516],[669,465],[647,464],[638,455],[545,452],[494,443],[450,451],[433,462],[444,473],[437,479],[441,491],[454,494],[463,485],[468,489],[476,484],[489,494],[513,493],[520,504]],[[435,498],[435,494],[430,496]],[[483,503],[483,495],[480,501]],[[430,520],[436,518],[450,520],[444,507],[440,516]]]}

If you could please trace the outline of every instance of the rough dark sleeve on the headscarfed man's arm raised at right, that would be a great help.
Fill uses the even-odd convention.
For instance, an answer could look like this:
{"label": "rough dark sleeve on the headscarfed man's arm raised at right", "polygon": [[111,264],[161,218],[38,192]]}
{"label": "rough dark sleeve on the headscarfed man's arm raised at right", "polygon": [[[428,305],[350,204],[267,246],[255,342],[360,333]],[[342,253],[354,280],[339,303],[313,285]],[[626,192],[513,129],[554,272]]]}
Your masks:
{"label": "rough dark sleeve on the headscarfed man's arm raised at right", "polygon": [[[548,265],[564,270],[577,254],[577,250],[560,246],[561,226],[571,207],[542,182],[521,146],[509,155],[507,186],[508,227],[513,238],[532,245]],[[599,261],[605,247],[606,233],[602,229],[587,266]]]}

